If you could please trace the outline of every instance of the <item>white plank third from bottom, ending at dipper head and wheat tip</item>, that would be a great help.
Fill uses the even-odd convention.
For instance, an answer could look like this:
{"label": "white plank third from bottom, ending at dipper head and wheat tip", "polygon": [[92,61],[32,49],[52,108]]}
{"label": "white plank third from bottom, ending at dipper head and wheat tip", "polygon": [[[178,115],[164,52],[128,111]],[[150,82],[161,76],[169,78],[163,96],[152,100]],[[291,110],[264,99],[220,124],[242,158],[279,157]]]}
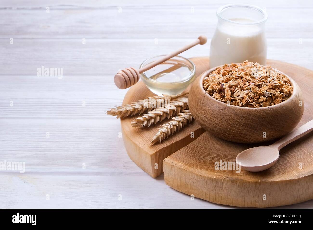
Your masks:
{"label": "white plank third from bottom, ending at dipper head and wheat tip", "polygon": [[2,75],[0,118],[111,119],[106,111],[121,105],[127,90],[118,89],[107,74],[63,79]]}

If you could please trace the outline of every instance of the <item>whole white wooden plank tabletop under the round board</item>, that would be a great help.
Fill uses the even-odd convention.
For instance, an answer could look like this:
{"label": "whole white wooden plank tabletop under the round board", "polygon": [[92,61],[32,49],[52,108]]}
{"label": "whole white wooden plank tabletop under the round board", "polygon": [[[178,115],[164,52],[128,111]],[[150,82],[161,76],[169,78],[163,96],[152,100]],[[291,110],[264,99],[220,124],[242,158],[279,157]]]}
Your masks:
{"label": "whole white wooden plank tabletop under the round board", "polygon": [[[228,207],[147,175],[105,111],[127,91],[113,83],[118,69],[211,38],[216,9],[234,1],[134,2],[0,2],[0,161],[25,162],[24,173],[0,171],[1,208]],[[311,1],[240,2],[266,7],[269,59],[313,69]],[[183,56],[208,56],[209,44]],[[63,78],[37,76],[42,66],[63,68]]]}

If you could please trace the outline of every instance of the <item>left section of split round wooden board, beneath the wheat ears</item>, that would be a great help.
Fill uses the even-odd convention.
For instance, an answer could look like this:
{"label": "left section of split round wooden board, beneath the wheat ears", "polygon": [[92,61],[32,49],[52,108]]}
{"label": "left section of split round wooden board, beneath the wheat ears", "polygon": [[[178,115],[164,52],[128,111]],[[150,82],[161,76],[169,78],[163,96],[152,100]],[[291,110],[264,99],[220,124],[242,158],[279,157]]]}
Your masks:
{"label": "left section of split round wooden board, beneath the wheat ears", "polygon": [[[208,58],[199,57],[191,58],[190,60],[192,60],[196,66],[196,76],[208,69]],[[154,94],[145,86],[145,84],[142,81],[139,81],[127,92],[123,104],[129,104],[153,95]],[[138,116],[133,116],[121,119],[123,140],[128,156],[142,170],[152,177],[159,176],[163,173],[162,161],[167,156],[198,138],[204,131],[196,122],[192,122],[173,136],[163,140],[162,143],[157,143],[151,146],[150,142],[153,136],[157,133],[158,128],[162,124],[167,123],[168,120],[166,119],[161,123],[157,123],[150,127],[131,127],[131,121],[137,117]],[[191,132],[194,133],[193,137],[191,137]],[[157,167],[155,164],[157,164]]]}

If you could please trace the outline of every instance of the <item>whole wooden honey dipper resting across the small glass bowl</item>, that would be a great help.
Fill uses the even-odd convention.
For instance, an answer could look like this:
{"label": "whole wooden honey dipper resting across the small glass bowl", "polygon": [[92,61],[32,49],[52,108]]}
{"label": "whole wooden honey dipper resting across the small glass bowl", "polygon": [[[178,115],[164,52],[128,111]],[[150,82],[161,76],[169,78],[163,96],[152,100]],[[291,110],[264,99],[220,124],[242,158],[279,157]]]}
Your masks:
{"label": "whole wooden honey dipper resting across the small glass bowl", "polygon": [[177,54],[180,54],[187,49],[190,49],[194,47],[195,45],[203,45],[207,42],[207,37],[206,36],[199,36],[197,40],[194,42],[190,43],[189,45],[186,45],[182,47],[181,49],[176,50],[175,52],[171,54],[167,54],[163,58],[156,60],[154,62],[151,62],[150,64],[147,64],[146,66],[136,70],[134,67],[122,69],[120,72],[115,74],[114,76],[114,83],[119,89],[126,89],[128,87],[131,87],[132,85],[136,84],[137,81],[139,81],[140,74],[157,66],[158,64],[161,64],[162,62],[165,62],[166,60],[176,56]]}

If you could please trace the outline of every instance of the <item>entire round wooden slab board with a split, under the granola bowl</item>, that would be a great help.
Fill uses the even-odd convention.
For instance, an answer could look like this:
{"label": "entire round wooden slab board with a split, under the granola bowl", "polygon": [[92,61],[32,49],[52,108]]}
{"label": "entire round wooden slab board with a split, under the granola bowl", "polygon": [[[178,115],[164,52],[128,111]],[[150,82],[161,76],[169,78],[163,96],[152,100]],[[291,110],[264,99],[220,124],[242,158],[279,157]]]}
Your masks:
{"label": "entire round wooden slab board with a split, under the granola bowl", "polygon": [[[208,57],[192,58],[192,61],[196,65],[197,76],[209,69]],[[288,74],[300,86],[304,97],[304,114],[298,126],[312,120],[313,71],[275,60],[268,60],[267,64]],[[127,92],[123,104],[152,95],[139,81]],[[149,128],[132,128],[130,122],[136,117],[121,119],[128,155],[152,177],[164,170],[166,184],[180,192],[239,207],[274,207],[313,198],[312,132],[281,149],[279,160],[268,170],[248,172],[241,169],[236,172],[215,170],[215,162],[235,161],[241,151],[256,145],[224,141],[204,132],[193,121],[161,144],[151,146],[152,137],[167,120]]]}

